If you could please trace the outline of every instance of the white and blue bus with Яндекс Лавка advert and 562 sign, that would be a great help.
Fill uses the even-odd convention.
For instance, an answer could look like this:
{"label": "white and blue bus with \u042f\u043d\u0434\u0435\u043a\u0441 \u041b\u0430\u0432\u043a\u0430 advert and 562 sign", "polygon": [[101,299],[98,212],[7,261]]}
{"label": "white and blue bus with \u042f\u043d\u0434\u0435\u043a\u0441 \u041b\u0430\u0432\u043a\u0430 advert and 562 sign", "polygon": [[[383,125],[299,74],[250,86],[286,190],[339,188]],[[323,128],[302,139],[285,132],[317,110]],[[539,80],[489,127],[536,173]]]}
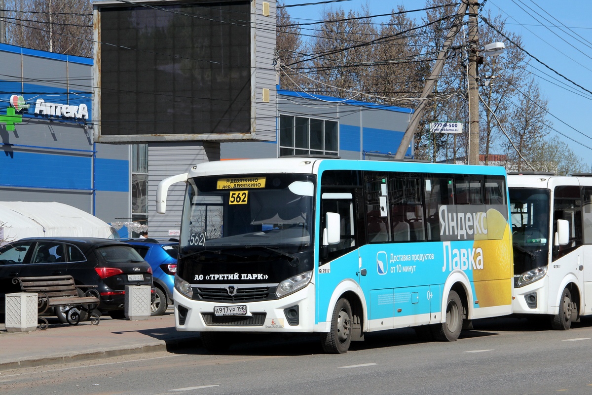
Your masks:
{"label": "white and blue bus with \u042f\u043d\u0434\u0435\u043a\u0441 \u041b\u0430\u0432\u043a\u0430 advert and 562 sign", "polygon": [[186,182],[175,322],[211,351],[236,332],[320,333],[343,353],[366,332],[422,327],[455,341],[511,313],[506,172],[319,158],[201,163]]}

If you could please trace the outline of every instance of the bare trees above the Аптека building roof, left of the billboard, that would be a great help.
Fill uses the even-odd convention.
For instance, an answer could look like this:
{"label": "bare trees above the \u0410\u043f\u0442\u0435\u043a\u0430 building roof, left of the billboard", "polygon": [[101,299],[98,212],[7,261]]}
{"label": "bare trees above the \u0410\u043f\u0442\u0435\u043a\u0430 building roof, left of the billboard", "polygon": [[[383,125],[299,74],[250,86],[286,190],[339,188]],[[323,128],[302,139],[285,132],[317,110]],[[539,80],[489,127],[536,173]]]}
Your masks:
{"label": "bare trees above the \u0410\u043f\u0442\u0435\u043a\u0430 building roof, left of the billboard", "polygon": [[7,43],[92,57],[92,5],[88,0],[5,0]]}

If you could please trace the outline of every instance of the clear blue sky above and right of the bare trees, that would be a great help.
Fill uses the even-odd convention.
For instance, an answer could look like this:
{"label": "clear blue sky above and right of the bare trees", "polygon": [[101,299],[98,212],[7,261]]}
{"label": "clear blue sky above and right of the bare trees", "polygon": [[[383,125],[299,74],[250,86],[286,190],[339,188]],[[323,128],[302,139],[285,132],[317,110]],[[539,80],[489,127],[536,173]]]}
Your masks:
{"label": "clear blue sky above and right of the bare trees", "polygon": [[[318,1],[321,0],[285,0],[285,4]],[[377,15],[391,12],[399,4],[404,5],[406,9],[423,8],[425,2],[349,0],[326,5],[290,7],[288,12],[295,21],[305,23],[320,20],[326,7],[348,11],[358,10],[364,4],[368,4],[372,15]],[[592,92],[592,1],[565,3],[551,0],[481,0],[481,4],[484,4],[483,9],[491,11],[492,17],[501,14],[506,18],[507,30],[522,35],[523,49],[549,68]],[[414,16],[417,20],[421,18],[419,12],[414,13]],[[384,21],[384,18],[377,21]],[[553,25],[562,27],[564,31]],[[500,41],[504,41],[503,37],[500,37]],[[506,43],[506,46],[508,44]],[[592,137],[591,117],[588,112],[592,108],[592,94],[578,88],[532,58],[530,70],[535,73],[542,94],[549,101],[549,112],[556,117],[549,115],[548,119],[552,121],[554,129],[567,137],[555,131],[551,131],[551,136],[558,134],[590,165],[592,139],[587,136]]]}

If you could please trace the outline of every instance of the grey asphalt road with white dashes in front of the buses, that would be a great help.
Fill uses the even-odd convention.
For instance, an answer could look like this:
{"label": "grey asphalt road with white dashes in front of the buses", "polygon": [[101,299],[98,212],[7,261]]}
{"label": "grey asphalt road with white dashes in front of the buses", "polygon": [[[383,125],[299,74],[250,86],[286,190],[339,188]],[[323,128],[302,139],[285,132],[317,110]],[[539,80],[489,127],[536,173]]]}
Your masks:
{"label": "grey asphalt road with white dashes in front of the buses", "polygon": [[223,355],[175,353],[0,372],[0,394],[592,394],[592,321],[541,329],[482,320],[452,343],[366,335],[343,355],[316,338],[243,337]]}

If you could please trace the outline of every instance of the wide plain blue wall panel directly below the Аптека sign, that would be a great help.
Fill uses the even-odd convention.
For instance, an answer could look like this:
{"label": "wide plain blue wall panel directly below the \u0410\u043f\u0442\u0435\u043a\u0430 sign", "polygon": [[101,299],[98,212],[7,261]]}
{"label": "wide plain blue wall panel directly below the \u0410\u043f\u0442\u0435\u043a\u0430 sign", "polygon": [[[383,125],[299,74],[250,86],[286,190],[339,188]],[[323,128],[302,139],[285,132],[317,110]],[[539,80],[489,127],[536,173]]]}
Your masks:
{"label": "wide plain blue wall panel directly below the \u0410\u043f\u0442\u0435\u043a\u0430 sign", "polygon": [[0,185],[65,190],[92,189],[90,157],[11,152],[0,155]]}

